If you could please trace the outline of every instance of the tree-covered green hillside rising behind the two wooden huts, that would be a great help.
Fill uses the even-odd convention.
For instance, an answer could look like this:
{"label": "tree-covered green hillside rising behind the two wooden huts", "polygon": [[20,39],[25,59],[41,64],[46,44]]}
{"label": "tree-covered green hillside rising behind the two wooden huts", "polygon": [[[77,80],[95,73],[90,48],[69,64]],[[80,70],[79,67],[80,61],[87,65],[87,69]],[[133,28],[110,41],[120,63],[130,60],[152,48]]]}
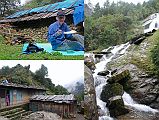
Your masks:
{"label": "tree-covered green hillside rising behind the two wooden huts", "polygon": [[30,70],[30,65],[24,67],[20,64],[14,67],[3,66],[0,69],[0,82],[4,79],[10,83],[44,87],[48,94],[69,94],[63,86],[55,86],[52,83],[51,79],[48,78],[48,69],[44,65],[41,65],[41,68],[35,72]]}

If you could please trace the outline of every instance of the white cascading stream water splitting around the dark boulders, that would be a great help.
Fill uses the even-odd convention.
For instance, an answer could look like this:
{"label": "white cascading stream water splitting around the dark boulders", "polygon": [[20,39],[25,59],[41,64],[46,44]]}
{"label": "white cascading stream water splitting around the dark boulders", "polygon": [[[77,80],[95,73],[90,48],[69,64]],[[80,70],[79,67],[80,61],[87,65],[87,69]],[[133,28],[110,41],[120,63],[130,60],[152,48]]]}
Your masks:
{"label": "white cascading stream water splitting around the dark boulders", "polygon": [[[111,52],[110,56],[104,55],[99,63],[96,64],[96,69],[94,71],[93,77],[95,82],[95,90],[96,90],[96,99],[97,99],[97,105],[100,108],[100,117],[99,120],[113,120],[113,118],[109,117],[109,111],[106,107],[106,103],[103,102],[100,99],[100,95],[102,92],[103,87],[107,84],[107,79],[111,77],[111,72],[106,77],[97,75],[98,72],[104,71],[106,68],[107,63],[109,63],[113,58],[120,57],[121,55],[125,54],[126,50],[129,48],[130,44],[122,44],[114,47],[110,47],[108,49],[103,50],[102,52]],[[137,110],[140,111],[149,111],[149,112],[157,112],[157,110],[154,110],[146,105],[137,104],[133,101],[131,96],[124,92],[122,96],[124,100],[124,104],[127,106],[131,106]]]}

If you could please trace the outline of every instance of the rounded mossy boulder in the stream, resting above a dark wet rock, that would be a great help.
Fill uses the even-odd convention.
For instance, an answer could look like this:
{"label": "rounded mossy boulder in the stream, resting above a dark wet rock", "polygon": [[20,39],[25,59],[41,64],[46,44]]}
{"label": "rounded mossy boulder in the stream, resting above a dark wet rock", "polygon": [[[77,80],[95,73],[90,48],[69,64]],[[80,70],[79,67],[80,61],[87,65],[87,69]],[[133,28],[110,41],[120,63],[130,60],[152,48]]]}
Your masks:
{"label": "rounded mossy boulder in the stream, resting above a dark wet rock", "polygon": [[101,93],[101,100],[108,102],[109,98],[115,96],[122,96],[124,94],[123,86],[119,83],[107,84],[103,87]]}

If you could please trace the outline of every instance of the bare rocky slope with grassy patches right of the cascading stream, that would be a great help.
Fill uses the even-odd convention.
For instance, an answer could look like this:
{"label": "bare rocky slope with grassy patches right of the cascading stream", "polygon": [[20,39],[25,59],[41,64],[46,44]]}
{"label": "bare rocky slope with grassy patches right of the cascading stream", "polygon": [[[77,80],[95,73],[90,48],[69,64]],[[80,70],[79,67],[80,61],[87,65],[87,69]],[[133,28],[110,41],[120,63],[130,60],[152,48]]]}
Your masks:
{"label": "bare rocky slope with grassy patches right of the cascading stream", "polygon": [[125,91],[138,103],[155,109],[159,109],[159,79],[152,63],[151,51],[158,40],[159,31],[146,37],[141,44],[131,45],[124,55],[114,58],[107,65],[108,69],[117,69],[118,73],[129,71],[130,79]]}

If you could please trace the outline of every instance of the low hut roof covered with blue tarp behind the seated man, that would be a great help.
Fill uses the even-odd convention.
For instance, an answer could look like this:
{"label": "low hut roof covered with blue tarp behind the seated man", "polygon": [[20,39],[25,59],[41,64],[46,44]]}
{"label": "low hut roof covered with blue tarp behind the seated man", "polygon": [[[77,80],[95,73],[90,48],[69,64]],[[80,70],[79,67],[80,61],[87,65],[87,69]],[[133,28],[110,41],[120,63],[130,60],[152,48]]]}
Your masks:
{"label": "low hut roof covered with blue tarp behind the seated man", "polygon": [[84,0],[65,0],[33,9],[22,10],[0,20],[0,24],[9,23],[19,28],[49,26],[56,21],[59,9],[64,9],[68,24],[83,25]]}

